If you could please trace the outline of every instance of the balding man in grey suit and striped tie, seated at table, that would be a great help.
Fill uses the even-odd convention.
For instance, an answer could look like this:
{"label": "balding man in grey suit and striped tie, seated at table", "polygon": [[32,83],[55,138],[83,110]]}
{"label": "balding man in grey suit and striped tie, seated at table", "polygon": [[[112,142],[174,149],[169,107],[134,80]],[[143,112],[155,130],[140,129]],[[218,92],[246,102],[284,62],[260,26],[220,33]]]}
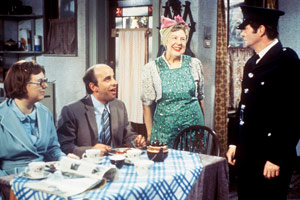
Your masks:
{"label": "balding man in grey suit and striped tie, seated at table", "polygon": [[63,107],[58,121],[58,140],[63,152],[82,156],[86,149],[111,147],[143,148],[146,140],[128,122],[122,101],[116,99],[117,82],[112,68],[104,64],[90,67],[83,77],[87,96]]}

